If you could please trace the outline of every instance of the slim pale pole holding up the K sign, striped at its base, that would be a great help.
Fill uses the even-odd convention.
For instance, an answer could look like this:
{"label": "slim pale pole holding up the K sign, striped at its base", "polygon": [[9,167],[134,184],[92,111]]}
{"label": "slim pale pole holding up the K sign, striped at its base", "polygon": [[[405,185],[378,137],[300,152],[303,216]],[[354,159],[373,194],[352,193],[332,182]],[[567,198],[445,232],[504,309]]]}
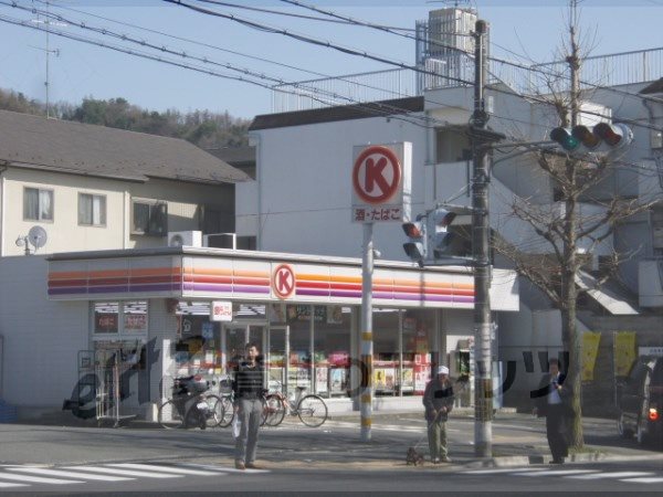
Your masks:
{"label": "slim pale pole holding up the K sign, striped at its base", "polygon": [[361,257],[361,441],[370,441],[372,422],[372,223],[364,224],[364,254]]}

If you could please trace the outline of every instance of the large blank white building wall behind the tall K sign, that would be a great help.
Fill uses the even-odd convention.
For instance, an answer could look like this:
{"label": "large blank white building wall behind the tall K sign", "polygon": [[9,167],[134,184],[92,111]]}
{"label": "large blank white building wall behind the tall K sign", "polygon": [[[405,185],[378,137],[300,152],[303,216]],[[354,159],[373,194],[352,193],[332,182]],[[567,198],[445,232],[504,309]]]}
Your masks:
{"label": "large blank white building wall behind the tall K sign", "polygon": [[[361,255],[362,228],[350,222],[354,145],[411,141],[412,211],[423,210],[425,133],[398,116],[269,129],[260,136],[260,250]],[[403,260],[402,237],[399,222],[375,225],[375,246],[386,260]]]}

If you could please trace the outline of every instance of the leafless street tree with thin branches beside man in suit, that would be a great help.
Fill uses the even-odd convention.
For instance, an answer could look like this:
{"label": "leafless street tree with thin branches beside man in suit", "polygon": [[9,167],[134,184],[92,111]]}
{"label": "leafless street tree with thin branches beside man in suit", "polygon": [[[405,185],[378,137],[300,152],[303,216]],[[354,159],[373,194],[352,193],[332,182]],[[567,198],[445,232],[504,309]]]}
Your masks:
{"label": "leafless street tree with thin branches beside man in suit", "polygon": [[[565,61],[570,73],[567,87],[560,88],[559,80],[547,81],[549,93],[539,95],[564,127],[579,124],[582,103],[590,96],[580,87],[580,72],[583,55],[578,42],[578,0],[569,2],[569,42]],[[612,248],[609,257],[602,257],[601,271],[590,284],[578,285],[581,271],[587,264],[587,254],[610,240],[623,220],[646,211],[657,200],[624,198],[614,194],[612,199],[600,201],[592,198],[592,189],[600,186],[617,167],[623,162],[614,155],[564,154],[558,149],[538,149],[532,152],[533,161],[546,175],[555,188],[556,203],[536,203],[535,199],[511,200],[513,215],[525,221],[547,251],[524,251],[514,246],[498,234],[493,244],[497,253],[509,258],[517,273],[529,279],[551,302],[561,314],[562,346],[569,353],[567,383],[573,390],[573,422],[571,446],[582,447],[581,424],[581,336],[577,330],[577,303],[583,292],[590,292],[615,276],[620,264],[632,254],[618,253]],[[659,200],[660,201],[660,200]],[[597,209],[583,209],[592,204]]]}

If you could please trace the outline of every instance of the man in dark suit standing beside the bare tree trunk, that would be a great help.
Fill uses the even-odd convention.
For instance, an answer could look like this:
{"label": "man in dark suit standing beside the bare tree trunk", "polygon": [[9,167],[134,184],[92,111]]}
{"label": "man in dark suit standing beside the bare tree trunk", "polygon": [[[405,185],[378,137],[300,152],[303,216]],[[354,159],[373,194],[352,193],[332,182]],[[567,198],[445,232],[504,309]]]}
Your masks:
{"label": "man in dark suit standing beside the bare tree trunk", "polygon": [[546,417],[546,435],[552,454],[550,464],[564,464],[564,458],[569,455],[569,412],[571,390],[564,382],[566,374],[559,371],[559,361],[548,361],[548,373],[544,374],[539,389],[532,392],[536,406],[534,414]]}

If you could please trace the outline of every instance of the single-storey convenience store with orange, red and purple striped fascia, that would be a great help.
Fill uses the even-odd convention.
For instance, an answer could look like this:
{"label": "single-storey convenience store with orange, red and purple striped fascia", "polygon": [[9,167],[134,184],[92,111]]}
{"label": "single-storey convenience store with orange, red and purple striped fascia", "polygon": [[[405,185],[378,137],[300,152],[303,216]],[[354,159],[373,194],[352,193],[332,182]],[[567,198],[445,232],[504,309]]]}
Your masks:
{"label": "single-storey convenience store with orange, red and purple striped fascia", "polygon": [[[0,265],[2,396],[23,414],[94,401],[90,385],[115,361],[122,412],[152,419],[172,378],[218,379],[249,341],[261,346],[270,388],[306,387],[329,398],[330,411],[357,409],[360,260],[162,247]],[[517,278],[505,269],[493,278],[498,320],[518,310]],[[378,261],[372,300],[376,409],[419,405],[434,363],[470,380],[471,269]]]}

